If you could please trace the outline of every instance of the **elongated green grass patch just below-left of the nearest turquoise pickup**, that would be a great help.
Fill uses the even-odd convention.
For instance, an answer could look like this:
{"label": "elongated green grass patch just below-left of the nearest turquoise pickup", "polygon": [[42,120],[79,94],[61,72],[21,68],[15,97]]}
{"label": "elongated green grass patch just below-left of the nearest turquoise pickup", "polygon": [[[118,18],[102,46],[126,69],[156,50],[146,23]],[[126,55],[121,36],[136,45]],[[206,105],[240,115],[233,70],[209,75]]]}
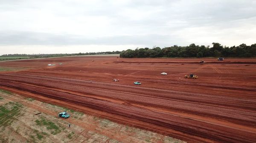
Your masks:
{"label": "elongated green grass patch just below-left of the nearest turquoise pickup", "polygon": [[52,135],[56,135],[61,132],[59,126],[55,125],[52,121],[48,121],[45,118],[41,118],[41,120],[35,121],[36,125],[38,126],[45,126],[48,130],[51,130]]}

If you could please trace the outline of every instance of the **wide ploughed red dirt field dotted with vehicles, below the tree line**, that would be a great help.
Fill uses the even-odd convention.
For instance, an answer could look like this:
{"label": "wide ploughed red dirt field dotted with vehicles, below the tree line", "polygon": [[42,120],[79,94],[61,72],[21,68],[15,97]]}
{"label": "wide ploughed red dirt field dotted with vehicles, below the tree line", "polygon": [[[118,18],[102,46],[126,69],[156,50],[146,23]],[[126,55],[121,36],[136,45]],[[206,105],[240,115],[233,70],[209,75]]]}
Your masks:
{"label": "wide ploughed red dirt field dotted with vehicles, below the tree line", "polygon": [[74,56],[0,66],[29,68],[0,72],[0,88],[20,95],[189,143],[256,142],[256,59]]}

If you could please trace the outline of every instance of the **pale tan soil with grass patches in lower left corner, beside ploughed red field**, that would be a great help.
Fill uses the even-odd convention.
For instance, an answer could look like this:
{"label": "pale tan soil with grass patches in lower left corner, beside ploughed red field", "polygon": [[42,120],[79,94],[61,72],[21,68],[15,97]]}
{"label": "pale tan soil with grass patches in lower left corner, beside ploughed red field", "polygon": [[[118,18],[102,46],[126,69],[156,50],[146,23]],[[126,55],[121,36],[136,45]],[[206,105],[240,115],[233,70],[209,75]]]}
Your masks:
{"label": "pale tan soil with grass patches in lower left corner, beside ploughed red field", "polygon": [[[1,143],[185,143],[5,90],[0,97]],[[58,118],[63,111],[70,118]]]}

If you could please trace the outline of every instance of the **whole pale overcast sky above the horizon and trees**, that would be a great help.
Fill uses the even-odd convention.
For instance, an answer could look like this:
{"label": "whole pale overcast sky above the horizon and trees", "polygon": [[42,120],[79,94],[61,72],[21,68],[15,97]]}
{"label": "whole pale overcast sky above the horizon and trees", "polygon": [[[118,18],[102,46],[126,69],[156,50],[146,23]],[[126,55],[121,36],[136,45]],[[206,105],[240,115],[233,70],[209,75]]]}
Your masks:
{"label": "whole pale overcast sky above the horizon and trees", "polygon": [[256,43],[256,0],[0,0],[0,55]]}

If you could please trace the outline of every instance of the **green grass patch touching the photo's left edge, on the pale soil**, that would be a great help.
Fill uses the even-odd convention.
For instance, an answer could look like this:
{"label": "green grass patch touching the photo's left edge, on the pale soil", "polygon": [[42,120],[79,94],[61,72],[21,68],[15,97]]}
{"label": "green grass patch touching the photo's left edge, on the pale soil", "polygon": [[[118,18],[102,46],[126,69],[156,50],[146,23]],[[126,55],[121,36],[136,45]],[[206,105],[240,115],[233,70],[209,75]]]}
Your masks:
{"label": "green grass patch touching the photo's left edge, on the pale soil", "polygon": [[9,102],[0,106],[0,126],[9,126],[20,115],[21,104]]}

